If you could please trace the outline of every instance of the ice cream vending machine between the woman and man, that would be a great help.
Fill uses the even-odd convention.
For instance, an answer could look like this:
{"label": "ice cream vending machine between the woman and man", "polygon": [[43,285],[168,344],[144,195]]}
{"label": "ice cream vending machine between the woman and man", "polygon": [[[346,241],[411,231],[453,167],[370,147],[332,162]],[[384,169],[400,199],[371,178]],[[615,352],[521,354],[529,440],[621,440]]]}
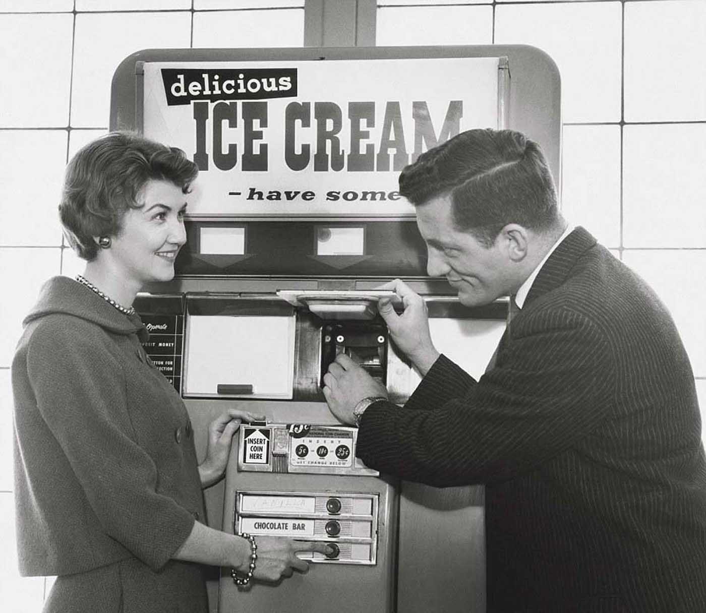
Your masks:
{"label": "ice cream vending machine between the woman and man", "polygon": [[482,487],[365,466],[321,385],[339,353],[400,406],[419,384],[377,312],[395,277],[424,296],[440,351],[482,374],[506,305],[467,309],[428,277],[397,176],[461,131],[513,127],[558,179],[558,92],[554,63],[524,46],[152,49],[119,66],[111,128],[179,147],[200,170],[177,275],[136,302],[145,348],[199,454],[226,407],[264,415],[241,425],[225,480],[205,490],[206,521],[331,549],[277,584],[241,589],[215,572],[213,612],[484,611]]}

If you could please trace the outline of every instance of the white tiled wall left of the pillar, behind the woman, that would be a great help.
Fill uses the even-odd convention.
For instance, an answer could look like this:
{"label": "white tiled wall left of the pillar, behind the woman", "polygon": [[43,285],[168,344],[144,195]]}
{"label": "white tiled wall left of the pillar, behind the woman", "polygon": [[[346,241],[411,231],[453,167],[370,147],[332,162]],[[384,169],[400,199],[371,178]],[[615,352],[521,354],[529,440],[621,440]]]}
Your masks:
{"label": "white tiled wall left of the pillar, behind the woman", "polygon": [[0,0],[0,38],[0,602],[35,613],[51,580],[17,576],[9,367],[42,282],[83,269],[56,215],[66,161],[107,131],[112,75],[133,51],[301,47],[304,0]]}

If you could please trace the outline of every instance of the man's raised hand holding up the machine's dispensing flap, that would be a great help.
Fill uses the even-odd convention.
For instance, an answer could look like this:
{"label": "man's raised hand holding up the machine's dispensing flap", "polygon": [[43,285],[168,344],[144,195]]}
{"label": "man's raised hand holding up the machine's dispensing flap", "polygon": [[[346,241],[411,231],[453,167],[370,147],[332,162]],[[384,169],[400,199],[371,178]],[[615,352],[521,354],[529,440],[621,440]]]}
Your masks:
{"label": "man's raised hand holding up the machine's dispensing flap", "polygon": [[388,298],[380,298],[378,312],[388,324],[390,336],[395,341],[395,345],[405,353],[407,358],[412,360],[421,376],[424,377],[440,355],[431,342],[426,303],[418,293],[412,291],[400,279],[390,281],[380,289],[392,289],[397,293],[397,296],[402,298],[402,305],[405,307],[402,315],[397,315]]}

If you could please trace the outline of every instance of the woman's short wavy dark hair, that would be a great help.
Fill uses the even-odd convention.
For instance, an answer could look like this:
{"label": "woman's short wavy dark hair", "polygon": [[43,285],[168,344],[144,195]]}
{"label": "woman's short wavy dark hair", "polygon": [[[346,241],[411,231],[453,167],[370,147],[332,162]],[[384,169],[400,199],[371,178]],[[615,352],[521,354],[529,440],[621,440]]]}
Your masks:
{"label": "woman's short wavy dark hair", "polygon": [[89,262],[93,237],[116,236],[128,209],[138,209],[140,190],[152,180],[171,181],[189,193],[198,167],[181,149],[136,133],[112,132],[82,147],[66,166],[59,217],[68,243]]}

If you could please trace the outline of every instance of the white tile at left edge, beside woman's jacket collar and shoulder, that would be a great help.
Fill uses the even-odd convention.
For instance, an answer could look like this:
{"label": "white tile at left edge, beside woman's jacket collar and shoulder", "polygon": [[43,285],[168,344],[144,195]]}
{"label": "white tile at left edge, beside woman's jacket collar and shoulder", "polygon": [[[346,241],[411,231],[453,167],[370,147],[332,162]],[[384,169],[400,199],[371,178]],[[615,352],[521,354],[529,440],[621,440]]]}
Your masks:
{"label": "white tile at left edge, beside woman's jacket collar and shoulder", "polygon": [[22,320],[44,281],[59,274],[60,263],[61,248],[0,247],[0,287],[6,296],[0,301],[0,367],[11,365]]}

